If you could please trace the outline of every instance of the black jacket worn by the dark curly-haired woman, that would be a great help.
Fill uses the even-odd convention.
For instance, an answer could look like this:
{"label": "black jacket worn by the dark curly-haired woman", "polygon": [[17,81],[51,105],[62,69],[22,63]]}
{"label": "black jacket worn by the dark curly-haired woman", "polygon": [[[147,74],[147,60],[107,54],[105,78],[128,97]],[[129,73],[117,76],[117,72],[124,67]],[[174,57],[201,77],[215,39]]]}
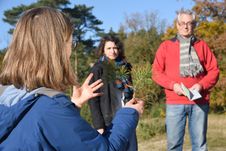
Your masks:
{"label": "black jacket worn by the dark curly-haired woman", "polygon": [[[128,70],[131,70],[131,65],[129,63],[126,66]],[[93,83],[98,79],[102,79],[104,83],[104,86],[97,90],[97,92],[102,92],[103,95],[89,100],[92,122],[96,129],[109,126],[116,111],[119,109],[117,103],[118,98],[115,93],[120,90],[117,89],[114,82],[106,76],[112,72],[112,69],[105,68],[103,62],[96,63],[91,69],[91,73],[94,75],[90,83]],[[118,92],[118,94],[120,94],[120,92]]]}

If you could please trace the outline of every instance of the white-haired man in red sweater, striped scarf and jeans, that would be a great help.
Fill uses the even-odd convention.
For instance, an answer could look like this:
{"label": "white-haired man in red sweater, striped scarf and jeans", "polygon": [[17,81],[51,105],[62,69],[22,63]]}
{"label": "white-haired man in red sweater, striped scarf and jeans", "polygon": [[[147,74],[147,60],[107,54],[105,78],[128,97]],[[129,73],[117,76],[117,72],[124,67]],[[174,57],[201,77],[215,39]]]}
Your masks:
{"label": "white-haired man in red sweater, striped scarf and jeans", "polygon": [[[192,151],[207,151],[209,89],[219,77],[217,60],[208,45],[194,36],[196,22],[192,11],[180,10],[176,26],[176,37],[160,45],[152,66],[152,79],[166,93],[167,150],[183,150],[188,118]],[[202,97],[188,99],[181,83]]]}

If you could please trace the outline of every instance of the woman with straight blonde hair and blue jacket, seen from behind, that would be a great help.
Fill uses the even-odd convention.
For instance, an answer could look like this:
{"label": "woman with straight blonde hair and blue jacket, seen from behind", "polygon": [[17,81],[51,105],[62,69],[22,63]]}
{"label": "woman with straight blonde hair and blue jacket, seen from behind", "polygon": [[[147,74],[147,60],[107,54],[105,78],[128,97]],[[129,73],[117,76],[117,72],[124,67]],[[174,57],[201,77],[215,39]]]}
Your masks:
{"label": "woman with straight blonde hair and blue jacket, seen from behind", "polygon": [[[49,7],[19,19],[0,74],[0,150],[121,150],[135,129],[139,100],[117,113],[105,135],[81,118],[79,108],[101,95],[95,91],[102,82],[89,85],[91,74],[78,86],[69,59],[72,32],[69,19]],[[72,85],[70,99],[63,91]]]}

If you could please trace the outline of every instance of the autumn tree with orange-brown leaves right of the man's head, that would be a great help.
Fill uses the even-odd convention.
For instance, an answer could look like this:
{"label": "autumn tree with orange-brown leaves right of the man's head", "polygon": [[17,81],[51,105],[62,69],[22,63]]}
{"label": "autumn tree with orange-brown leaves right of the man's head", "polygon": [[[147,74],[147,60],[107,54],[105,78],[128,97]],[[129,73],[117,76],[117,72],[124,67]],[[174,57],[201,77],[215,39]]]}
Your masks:
{"label": "autumn tree with orange-brown leaves right of the man's head", "polygon": [[[205,39],[217,55],[226,54],[226,0],[195,0],[198,35]],[[221,55],[220,55],[221,56]],[[222,57],[222,56],[221,56]]]}

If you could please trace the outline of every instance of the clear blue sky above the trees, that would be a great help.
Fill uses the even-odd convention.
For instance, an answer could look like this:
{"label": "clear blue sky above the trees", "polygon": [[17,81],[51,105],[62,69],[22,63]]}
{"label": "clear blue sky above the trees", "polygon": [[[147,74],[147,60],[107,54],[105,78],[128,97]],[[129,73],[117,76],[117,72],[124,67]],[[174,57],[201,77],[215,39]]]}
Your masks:
{"label": "clear blue sky above the trees", "polygon": [[[0,0],[0,49],[7,47],[11,36],[7,33],[10,26],[2,18],[7,9],[20,4],[31,4],[37,0]],[[112,28],[117,31],[124,22],[125,16],[132,13],[157,12],[159,19],[165,19],[167,25],[171,25],[180,8],[191,9],[194,5],[192,0],[70,0],[72,4],[85,4],[93,6],[93,14],[101,21],[100,26],[106,32]]]}

